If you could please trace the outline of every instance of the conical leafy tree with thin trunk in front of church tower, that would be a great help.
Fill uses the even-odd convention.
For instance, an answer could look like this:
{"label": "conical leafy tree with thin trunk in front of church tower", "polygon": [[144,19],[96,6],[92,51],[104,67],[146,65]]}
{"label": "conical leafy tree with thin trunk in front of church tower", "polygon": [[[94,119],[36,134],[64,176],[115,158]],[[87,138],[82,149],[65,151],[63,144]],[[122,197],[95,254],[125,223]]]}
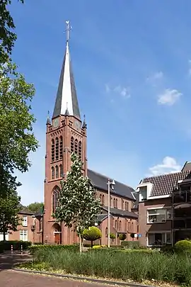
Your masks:
{"label": "conical leafy tree with thin trunk in front of church tower", "polygon": [[59,206],[54,217],[65,226],[74,227],[80,241],[80,252],[82,252],[82,232],[85,228],[96,222],[100,213],[100,200],[94,198],[93,185],[87,176],[83,176],[83,162],[79,156],[71,154],[71,171],[66,181],[61,181],[59,194]]}

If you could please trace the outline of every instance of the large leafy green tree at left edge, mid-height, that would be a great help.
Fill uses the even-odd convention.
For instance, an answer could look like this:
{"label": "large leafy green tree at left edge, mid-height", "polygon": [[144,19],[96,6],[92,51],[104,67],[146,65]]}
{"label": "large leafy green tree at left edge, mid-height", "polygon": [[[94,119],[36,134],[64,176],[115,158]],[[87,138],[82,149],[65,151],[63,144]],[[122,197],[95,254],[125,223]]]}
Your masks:
{"label": "large leafy green tree at left edge, mid-height", "polygon": [[20,185],[13,171],[28,171],[28,154],[38,147],[30,113],[35,89],[16,69],[11,62],[0,66],[0,195]]}

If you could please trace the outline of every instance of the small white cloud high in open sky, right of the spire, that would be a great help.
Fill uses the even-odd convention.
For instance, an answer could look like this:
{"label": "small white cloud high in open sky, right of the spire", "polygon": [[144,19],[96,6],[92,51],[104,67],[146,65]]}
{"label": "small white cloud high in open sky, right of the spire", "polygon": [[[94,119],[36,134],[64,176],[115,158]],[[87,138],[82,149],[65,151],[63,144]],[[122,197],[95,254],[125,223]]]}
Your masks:
{"label": "small white cloud high in open sky, right of the spire", "polygon": [[162,94],[158,95],[158,103],[161,105],[173,106],[173,104],[183,96],[180,91],[173,89],[166,89]]}

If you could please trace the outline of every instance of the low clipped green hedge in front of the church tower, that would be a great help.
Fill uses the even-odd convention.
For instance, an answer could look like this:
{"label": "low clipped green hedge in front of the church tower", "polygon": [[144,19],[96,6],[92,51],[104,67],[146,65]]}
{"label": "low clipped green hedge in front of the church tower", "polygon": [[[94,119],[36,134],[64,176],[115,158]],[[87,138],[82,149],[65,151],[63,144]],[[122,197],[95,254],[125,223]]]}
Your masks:
{"label": "low clipped green hedge in front of the church tower", "polygon": [[57,245],[48,245],[48,244],[44,244],[44,245],[32,245],[29,247],[29,250],[30,250],[30,253],[31,254],[35,254],[35,252],[38,252],[38,251],[49,251],[51,250],[54,251],[54,250],[70,250],[70,251],[79,251],[79,244],[70,244],[70,245],[61,245],[61,244],[57,244]]}

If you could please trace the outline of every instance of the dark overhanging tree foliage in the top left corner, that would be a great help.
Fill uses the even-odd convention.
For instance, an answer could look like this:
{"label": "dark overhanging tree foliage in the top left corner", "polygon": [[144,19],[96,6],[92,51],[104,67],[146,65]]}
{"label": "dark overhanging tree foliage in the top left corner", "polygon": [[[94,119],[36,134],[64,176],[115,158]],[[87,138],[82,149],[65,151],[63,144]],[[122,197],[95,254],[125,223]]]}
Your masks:
{"label": "dark overhanging tree foliage in the top left corner", "polygon": [[[17,0],[24,3],[24,0]],[[8,55],[11,55],[14,43],[16,41],[16,33],[13,30],[16,28],[11,13],[8,11],[8,5],[11,0],[1,0],[0,3],[0,64],[4,64],[8,60]]]}

